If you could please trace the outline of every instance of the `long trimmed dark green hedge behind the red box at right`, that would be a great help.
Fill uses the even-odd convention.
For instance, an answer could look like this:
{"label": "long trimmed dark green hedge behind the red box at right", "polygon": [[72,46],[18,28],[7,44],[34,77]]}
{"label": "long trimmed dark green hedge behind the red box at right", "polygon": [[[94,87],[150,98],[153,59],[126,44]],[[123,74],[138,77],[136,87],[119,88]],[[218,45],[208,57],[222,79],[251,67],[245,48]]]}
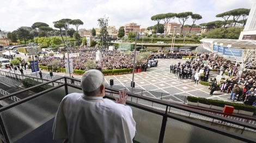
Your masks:
{"label": "long trimmed dark green hedge behind the red box at right", "polygon": [[241,104],[241,103],[221,101],[221,100],[212,100],[212,99],[205,99],[205,98],[197,98],[197,97],[193,97],[193,96],[187,96],[187,101],[199,102],[199,103],[204,103],[206,105],[215,105],[215,106],[220,106],[220,107],[224,107],[225,105],[228,105],[228,106],[233,106],[237,110],[243,110],[243,111],[248,111],[248,112],[254,112],[255,111],[254,106],[245,105],[245,104]]}

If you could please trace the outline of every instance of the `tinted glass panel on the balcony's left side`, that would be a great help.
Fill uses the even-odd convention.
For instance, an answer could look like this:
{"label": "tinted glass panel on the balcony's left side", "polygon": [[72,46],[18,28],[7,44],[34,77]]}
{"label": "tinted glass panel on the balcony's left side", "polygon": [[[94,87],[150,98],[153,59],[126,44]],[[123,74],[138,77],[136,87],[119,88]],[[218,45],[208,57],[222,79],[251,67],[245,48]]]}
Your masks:
{"label": "tinted glass panel on the balcony's left side", "polygon": [[64,96],[65,88],[58,88],[1,112],[10,142],[15,142],[54,118]]}

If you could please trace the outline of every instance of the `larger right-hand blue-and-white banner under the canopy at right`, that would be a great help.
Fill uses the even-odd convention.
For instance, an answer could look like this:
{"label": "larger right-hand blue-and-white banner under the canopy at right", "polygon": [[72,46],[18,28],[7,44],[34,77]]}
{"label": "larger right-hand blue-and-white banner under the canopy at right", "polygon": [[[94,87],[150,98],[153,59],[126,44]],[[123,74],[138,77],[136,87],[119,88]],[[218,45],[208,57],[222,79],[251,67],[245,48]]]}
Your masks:
{"label": "larger right-hand blue-and-white banner under the canopy at right", "polygon": [[223,47],[223,57],[226,60],[242,62],[242,49]]}

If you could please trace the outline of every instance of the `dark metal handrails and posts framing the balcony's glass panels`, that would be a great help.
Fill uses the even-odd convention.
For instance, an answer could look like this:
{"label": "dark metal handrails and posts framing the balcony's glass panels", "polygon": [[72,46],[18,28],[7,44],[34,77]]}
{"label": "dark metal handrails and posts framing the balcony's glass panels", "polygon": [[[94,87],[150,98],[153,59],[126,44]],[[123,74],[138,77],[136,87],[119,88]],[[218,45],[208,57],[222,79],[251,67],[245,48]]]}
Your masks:
{"label": "dark metal handrails and posts framing the balcony's glass panels", "polygon": [[[33,86],[33,87],[30,87],[30,88],[21,90],[19,92],[12,93],[12,94],[10,94],[8,96],[1,97],[0,100],[3,100],[3,99],[8,98],[10,96],[15,96],[16,94],[20,94],[22,92],[26,92],[28,90],[31,90],[31,89],[36,88],[36,87],[40,87],[42,85],[58,82],[61,79],[64,79],[63,83],[58,83],[57,86],[54,86],[54,87],[52,87],[50,89],[44,90],[44,91],[42,91],[40,93],[36,93],[36,94],[34,94],[32,96],[29,96],[29,97],[27,97],[25,99],[21,99],[19,101],[10,103],[9,105],[0,108],[0,112],[3,112],[5,110],[7,110],[9,108],[12,108],[12,107],[15,107],[17,105],[20,105],[21,103],[25,103],[27,101],[35,99],[35,98],[37,98],[37,97],[39,97],[41,95],[44,95],[45,93],[51,92],[52,90],[58,89],[58,88],[63,87],[63,86],[65,86],[66,94],[68,94],[68,88],[66,88],[66,87],[72,87],[72,88],[76,88],[76,89],[80,89],[80,90],[82,89],[81,86],[73,85],[73,84],[67,82],[68,80],[74,80],[72,77],[70,78],[70,77],[64,76],[64,77],[60,77],[60,78],[52,80],[52,81],[47,81],[45,83],[41,83],[40,85],[37,85],[37,86]],[[109,95],[106,94],[106,98],[114,100],[114,96],[118,96],[118,92],[119,91],[120,90],[118,90],[118,89],[114,89],[114,88],[111,88],[111,87],[106,87],[106,93],[109,93]],[[114,96],[113,96],[113,94],[114,94]],[[212,118],[212,119],[216,119],[216,120],[221,120],[223,122],[229,122],[230,124],[239,125],[239,126],[242,126],[244,128],[251,128],[251,129],[254,129],[254,130],[256,130],[256,125],[248,124],[246,122],[236,121],[236,120],[233,120],[233,119],[228,119],[228,118],[225,118],[223,116],[215,116],[215,115],[213,115],[211,113],[206,113],[205,111],[200,111],[198,109],[195,110],[194,108],[191,108],[189,106],[178,105],[178,104],[172,103],[172,102],[161,101],[159,99],[153,99],[153,98],[149,98],[147,96],[139,96],[139,95],[133,94],[133,93],[127,93],[127,94],[130,96],[130,98],[129,98],[130,100],[126,102],[127,105],[130,105],[132,107],[139,108],[139,109],[142,109],[144,111],[148,111],[150,113],[155,113],[155,114],[158,114],[158,115],[162,116],[163,120],[162,120],[162,126],[161,126],[161,131],[160,131],[159,142],[163,141],[164,131],[166,129],[166,122],[167,122],[168,118],[172,118],[172,119],[175,119],[175,120],[186,122],[187,124],[190,124],[190,125],[193,125],[193,126],[197,126],[197,127],[200,127],[200,128],[204,128],[204,129],[207,129],[207,130],[215,132],[215,133],[223,134],[223,135],[226,135],[228,137],[235,138],[237,140],[246,141],[246,142],[255,142],[255,139],[249,138],[246,135],[229,132],[229,131],[226,131],[224,129],[220,129],[218,127],[210,126],[210,125],[204,124],[202,122],[198,122],[198,121],[194,121],[194,120],[188,119],[188,118],[186,118],[184,116],[180,116],[178,114],[173,114],[171,112],[171,109],[172,108],[180,109],[182,111],[186,111],[186,112],[190,112],[190,113],[206,116],[206,117],[209,117],[209,118]],[[166,107],[163,110],[157,109],[157,108],[152,108],[152,107],[149,107],[147,105],[142,105],[142,104],[136,103],[136,100],[132,101],[132,99],[145,100],[145,101],[157,103],[157,104],[160,104],[160,105],[166,106]],[[230,115],[230,114],[228,114],[228,115]],[[5,127],[4,127],[4,125],[1,122],[2,122],[2,119],[0,120],[0,125],[1,125],[1,128],[3,129],[3,135],[4,135],[4,137],[6,137],[5,139],[8,139],[7,134],[5,132]]]}

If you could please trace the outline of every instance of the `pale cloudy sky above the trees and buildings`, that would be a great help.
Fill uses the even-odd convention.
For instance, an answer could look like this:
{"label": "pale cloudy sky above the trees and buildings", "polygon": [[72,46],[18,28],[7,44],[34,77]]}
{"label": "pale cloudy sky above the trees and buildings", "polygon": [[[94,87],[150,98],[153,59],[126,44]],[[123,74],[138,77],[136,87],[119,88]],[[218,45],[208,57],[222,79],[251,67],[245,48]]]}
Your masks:
{"label": "pale cloudy sky above the trees and buildings", "polygon": [[[137,23],[141,28],[155,25],[151,16],[169,12],[191,11],[202,15],[196,24],[223,20],[215,17],[222,12],[251,9],[256,0],[0,0],[0,29],[14,31],[31,27],[35,22],[44,22],[53,27],[54,21],[63,18],[81,19],[78,29],[99,28],[97,19],[108,17],[108,25],[116,29],[128,23]],[[170,22],[177,22],[178,18]],[[163,23],[161,21],[160,23]],[[185,24],[192,24],[191,18]],[[70,28],[75,26],[70,25]]]}

